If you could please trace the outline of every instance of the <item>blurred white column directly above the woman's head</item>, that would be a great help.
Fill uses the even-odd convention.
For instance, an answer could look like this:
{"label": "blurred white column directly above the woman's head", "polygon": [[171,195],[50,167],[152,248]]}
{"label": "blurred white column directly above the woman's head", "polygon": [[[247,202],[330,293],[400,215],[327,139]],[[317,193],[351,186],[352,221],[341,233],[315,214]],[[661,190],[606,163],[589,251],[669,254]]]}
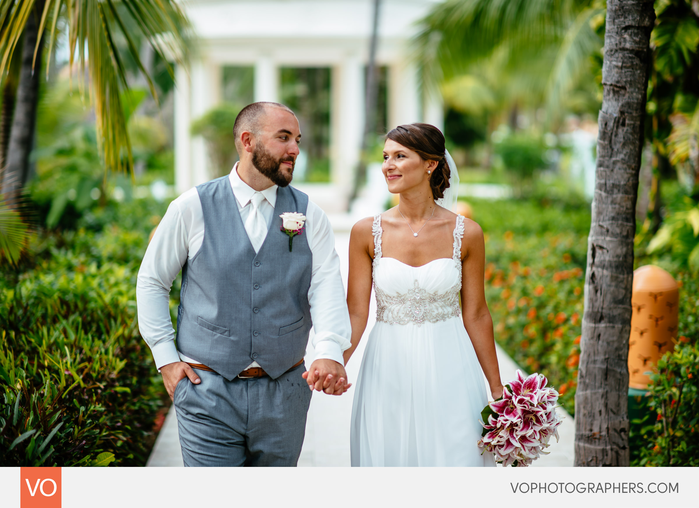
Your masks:
{"label": "blurred white column directly above the woman's head", "polygon": [[389,67],[389,129],[419,122],[420,91],[417,68],[406,60]]}

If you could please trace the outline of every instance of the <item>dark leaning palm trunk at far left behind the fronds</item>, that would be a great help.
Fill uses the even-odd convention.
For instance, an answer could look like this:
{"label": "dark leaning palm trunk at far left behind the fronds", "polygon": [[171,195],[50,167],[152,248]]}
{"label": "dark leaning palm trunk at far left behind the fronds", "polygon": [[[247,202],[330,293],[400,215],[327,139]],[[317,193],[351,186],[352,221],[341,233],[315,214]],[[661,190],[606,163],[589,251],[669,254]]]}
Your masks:
{"label": "dark leaning palm trunk at far left behind the fronds", "polygon": [[7,167],[3,181],[3,192],[6,195],[24,187],[24,184],[29,180],[29,155],[31,149],[34,148],[34,127],[36,125],[36,106],[39,99],[43,44],[39,45],[36,64],[34,64],[34,48],[36,48],[38,26],[44,3],[45,0],[36,0],[34,10],[24,26],[20,81],[17,85],[15,115],[12,120]]}

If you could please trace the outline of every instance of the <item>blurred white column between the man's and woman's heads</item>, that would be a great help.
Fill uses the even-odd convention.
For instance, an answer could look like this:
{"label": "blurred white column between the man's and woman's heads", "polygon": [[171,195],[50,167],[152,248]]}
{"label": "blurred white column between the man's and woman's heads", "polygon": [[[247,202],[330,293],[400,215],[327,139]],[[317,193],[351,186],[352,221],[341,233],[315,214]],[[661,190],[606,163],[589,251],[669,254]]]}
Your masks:
{"label": "blurred white column between the man's and woman's heads", "polygon": [[359,55],[348,55],[333,67],[332,87],[331,181],[347,199],[354,185],[364,129],[364,64]]}

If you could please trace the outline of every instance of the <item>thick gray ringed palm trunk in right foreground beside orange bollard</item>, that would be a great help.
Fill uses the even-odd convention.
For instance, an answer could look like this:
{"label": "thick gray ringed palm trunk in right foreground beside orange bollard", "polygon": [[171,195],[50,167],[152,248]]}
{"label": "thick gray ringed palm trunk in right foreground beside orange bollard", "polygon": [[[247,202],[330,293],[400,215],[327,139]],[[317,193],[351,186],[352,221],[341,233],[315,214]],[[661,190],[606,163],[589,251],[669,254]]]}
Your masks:
{"label": "thick gray ringed palm trunk in right foreground beside orange bollard", "polygon": [[628,466],[628,337],[653,0],[607,1],[597,171],[575,395],[575,465]]}

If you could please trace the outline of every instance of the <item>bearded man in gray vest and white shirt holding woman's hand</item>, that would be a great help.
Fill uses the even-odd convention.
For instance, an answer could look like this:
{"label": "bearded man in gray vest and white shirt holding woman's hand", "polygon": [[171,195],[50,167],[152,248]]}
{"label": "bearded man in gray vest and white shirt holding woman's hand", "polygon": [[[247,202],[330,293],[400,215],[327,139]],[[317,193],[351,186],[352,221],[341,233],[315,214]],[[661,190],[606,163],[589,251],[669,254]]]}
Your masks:
{"label": "bearded man in gray vest and white shirt holding woman's hand", "polygon": [[[289,186],[294,112],[250,104],[233,134],[240,162],[175,199],[147,248],[138,325],[173,399],[185,465],[295,466],[312,390],[349,388],[340,262],[328,218]],[[305,218],[290,243],[280,216],[294,212]],[[175,345],[168,302],[180,269]]]}

